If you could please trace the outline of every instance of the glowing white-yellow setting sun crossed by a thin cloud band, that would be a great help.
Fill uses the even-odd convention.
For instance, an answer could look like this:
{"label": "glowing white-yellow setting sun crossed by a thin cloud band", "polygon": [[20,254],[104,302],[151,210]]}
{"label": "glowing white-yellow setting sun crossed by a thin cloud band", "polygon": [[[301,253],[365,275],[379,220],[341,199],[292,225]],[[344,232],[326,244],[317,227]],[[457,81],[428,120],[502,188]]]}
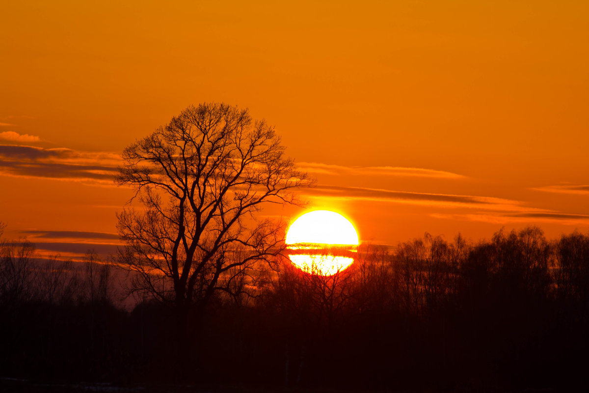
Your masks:
{"label": "glowing white-yellow setting sun crossed by a thin cloud band", "polygon": [[299,269],[330,276],[354,262],[358,233],[341,214],[315,210],[292,223],[286,244],[290,261]]}

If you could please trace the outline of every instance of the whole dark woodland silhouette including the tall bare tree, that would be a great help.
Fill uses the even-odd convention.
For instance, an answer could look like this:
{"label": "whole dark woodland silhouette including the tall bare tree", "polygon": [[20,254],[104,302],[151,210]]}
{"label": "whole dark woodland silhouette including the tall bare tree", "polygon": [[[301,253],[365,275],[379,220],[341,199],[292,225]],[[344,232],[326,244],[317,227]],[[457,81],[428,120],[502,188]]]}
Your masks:
{"label": "whole dark woodland silhouette including the tall bare tree", "polygon": [[[589,235],[362,244],[290,263],[269,204],[315,180],[274,128],[191,105],[130,144],[116,255],[0,245],[0,377],[61,383],[470,391],[587,384]],[[4,226],[0,227],[4,229]],[[124,299],[122,302],[121,299]]]}

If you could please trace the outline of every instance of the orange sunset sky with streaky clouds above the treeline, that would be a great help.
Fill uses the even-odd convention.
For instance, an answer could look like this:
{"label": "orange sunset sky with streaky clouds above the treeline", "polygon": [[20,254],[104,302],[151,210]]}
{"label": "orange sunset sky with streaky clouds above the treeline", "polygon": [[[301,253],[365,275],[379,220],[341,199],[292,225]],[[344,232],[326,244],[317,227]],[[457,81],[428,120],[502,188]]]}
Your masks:
{"label": "orange sunset sky with streaky clouds above the treeline", "polygon": [[[589,2],[4,2],[0,221],[117,242],[125,146],[189,104],[249,108],[360,240],[589,230]],[[302,210],[273,212],[292,219]]]}

